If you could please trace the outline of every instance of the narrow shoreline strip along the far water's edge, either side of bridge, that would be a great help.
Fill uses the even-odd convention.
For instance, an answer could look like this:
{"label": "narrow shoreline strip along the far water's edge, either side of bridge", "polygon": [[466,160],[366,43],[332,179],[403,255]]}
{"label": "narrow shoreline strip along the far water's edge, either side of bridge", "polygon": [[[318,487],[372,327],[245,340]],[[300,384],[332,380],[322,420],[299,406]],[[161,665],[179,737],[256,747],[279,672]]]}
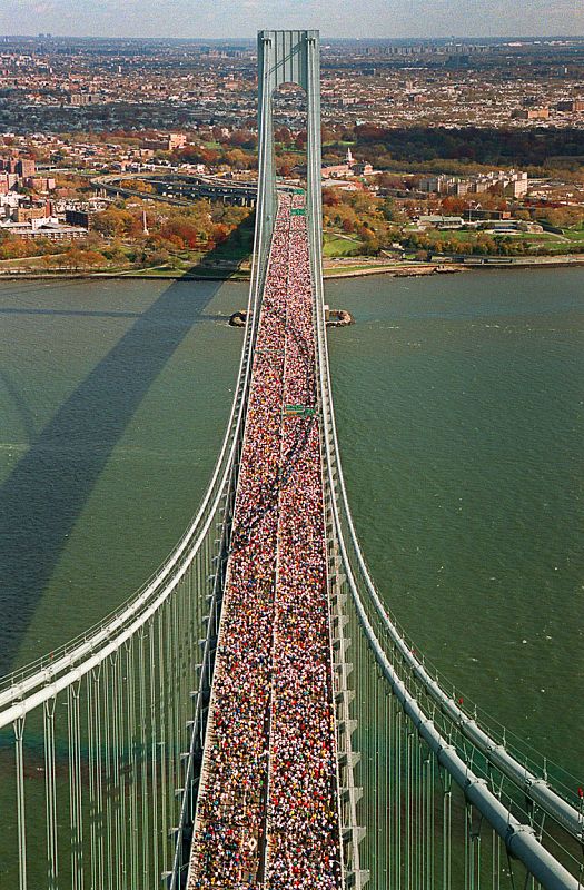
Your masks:
{"label": "narrow shoreline strip along the far water's edge, either side of bridge", "polygon": [[[486,259],[486,258],[485,258]],[[512,261],[497,261],[497,259],[476,260],[468,263],[419,263],[404,266],[372,266],[368,268],[347,268],[324,267],[325,280],[340,278],[362,278],[369,275],[388,275],[393,278],[416,278],[420,276],[434,275],[455,275],[462,271],[487,269],[538,269],[538,268],[560,268],[570,266],[584,266],[584,255],[578,256],[557,256],[557,257],[514,257]],[[2,271],[0,268],[1,281],[73,281],[73,280],[148,280],[148,281],[226,281],[234,284],[248,283],[250,275],[227,275],[216,271],[211,275],[191,275],[189,273],[179,275],[169,270],[168,274],[156,274],[149,271],[76,271],[76,273],[41,273],[27,271]]]}

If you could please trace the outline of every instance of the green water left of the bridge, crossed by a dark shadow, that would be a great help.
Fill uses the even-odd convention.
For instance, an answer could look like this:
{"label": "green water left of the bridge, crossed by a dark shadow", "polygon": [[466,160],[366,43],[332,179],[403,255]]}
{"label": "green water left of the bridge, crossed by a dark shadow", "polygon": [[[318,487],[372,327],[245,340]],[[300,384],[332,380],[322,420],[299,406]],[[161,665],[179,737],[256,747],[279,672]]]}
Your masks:
{"label": "green water left of the bridge, crossed by a dark shadow", "polygon": [[[0,654],[50,651],[169,553],[227,421],[246,288],[0,286]],[[244,300],[244,303],[241,303]]]}

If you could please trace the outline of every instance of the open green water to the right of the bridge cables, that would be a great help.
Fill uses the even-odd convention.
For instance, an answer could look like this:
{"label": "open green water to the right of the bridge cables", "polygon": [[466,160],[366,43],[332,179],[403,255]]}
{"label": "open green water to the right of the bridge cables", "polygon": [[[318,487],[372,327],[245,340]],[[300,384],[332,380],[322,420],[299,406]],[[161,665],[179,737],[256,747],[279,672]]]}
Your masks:
{"label": "open green water to the right of the bridge cables", "polygon": [[465,696],[581,778],[583,294],[570,269],[328,289],[357,319],[331,370],[378,586]]}

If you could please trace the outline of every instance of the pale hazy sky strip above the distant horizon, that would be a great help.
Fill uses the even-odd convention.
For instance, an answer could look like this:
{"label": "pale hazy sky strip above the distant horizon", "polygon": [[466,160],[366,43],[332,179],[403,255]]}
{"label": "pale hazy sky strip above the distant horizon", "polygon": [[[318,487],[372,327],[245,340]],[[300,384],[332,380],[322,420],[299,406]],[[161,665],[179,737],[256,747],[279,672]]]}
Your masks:
{"label": "pale hazy sky strip above the distant horizon", "polygon": [[584,34],[584,0],[0,0],[0,34],[255,37],[318,28],[323,37]]}

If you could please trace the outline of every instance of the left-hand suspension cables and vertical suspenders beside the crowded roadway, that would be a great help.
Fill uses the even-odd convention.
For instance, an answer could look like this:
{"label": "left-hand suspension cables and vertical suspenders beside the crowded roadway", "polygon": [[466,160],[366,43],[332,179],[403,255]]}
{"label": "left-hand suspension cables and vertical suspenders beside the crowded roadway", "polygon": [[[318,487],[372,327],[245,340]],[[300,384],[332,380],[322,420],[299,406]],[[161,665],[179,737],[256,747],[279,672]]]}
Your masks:
{"label": "left-hand suspension cables and vertical suspenders beside the crowded roadway", "polygon": [[255,261],[225,439],[187,532],[119,609],[0,680],[1,886],[146,890],[180,859],[192,809],[185,789],[196,789],[212,679],[263,275]]}

